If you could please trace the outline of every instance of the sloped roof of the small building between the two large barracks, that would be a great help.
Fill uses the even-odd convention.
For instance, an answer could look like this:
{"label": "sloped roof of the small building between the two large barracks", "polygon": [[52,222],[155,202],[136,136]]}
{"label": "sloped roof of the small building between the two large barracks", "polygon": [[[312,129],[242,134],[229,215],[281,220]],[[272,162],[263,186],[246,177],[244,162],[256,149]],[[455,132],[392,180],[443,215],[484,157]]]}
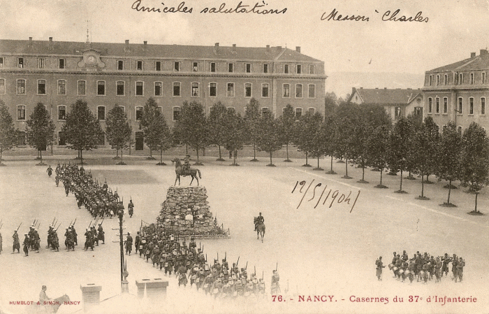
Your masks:
{"label": "sloped roof of the small building between the two large barracks", "polygon": [[421,92],[419,90],[408,89],[378,89],[378,88],[355,88],[351,92],[349,101],[354,94],[358,93],[363,101],[363,104],[379,104],[379,105],[398,105],[409,104],[413,99],[418,97]]}

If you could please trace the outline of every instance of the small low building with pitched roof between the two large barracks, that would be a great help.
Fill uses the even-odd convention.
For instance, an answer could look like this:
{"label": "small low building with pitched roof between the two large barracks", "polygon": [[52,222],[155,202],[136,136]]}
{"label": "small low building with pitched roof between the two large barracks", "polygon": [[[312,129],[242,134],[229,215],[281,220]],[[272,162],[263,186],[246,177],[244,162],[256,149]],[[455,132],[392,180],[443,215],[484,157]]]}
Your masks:
{"label": "small low building with pitched roof between the two large barracks", "polygon": [[421,90],[353,87],[348,101],[353,104],[383,106],[393,122],[400,117],[407,117],[410,113],[423,116],[423,93]]}

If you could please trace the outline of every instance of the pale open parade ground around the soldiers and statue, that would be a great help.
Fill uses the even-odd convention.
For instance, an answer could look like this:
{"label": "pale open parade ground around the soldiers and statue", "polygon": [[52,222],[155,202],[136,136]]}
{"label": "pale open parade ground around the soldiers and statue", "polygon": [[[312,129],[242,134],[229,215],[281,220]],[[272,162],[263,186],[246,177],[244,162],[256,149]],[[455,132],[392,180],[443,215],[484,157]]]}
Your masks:
{"label": "pale open parade ground around the soldiers and statue", "polygon": [[[247,159],[249,160],[249,159]],[[124,198],[135,205],[133,217],[125,215],[124,233],[135,235],[141,222],[156,222],[168,187],[175,182],[175,168],[154,166],[156,162],[141,157],[127,166],[101,165],[87,160],[86,171],[98,181],[107,181]],[[45,160],[54,167],[54,159]],[[73,160],[72,160],[73,162]],[[232,262],[240,258],[248,273],[265,280],[265,297],[254,299],[214,299],[195,287],[178,287],[174,275],[146,262],[139,255],[126,255],[129,272],[129,295],[120,294],[120,255],[118,220],[105,218],[105,244],[83,250],[85,228],[93,221],[87,210],[78,208],[73,194],[64,193],[54,175],[48,178],[45,166],[33,160],[6,161],[0,167],[0,204],[3,227],[3,251],[0,255],[0,312],[29,313],[22,301],[38,301],[41,287],[48,287],[50,298],[67,294],[71,304],[57,313],[83,313],[80,285],[101,285],[100,313],[488,313],[489,290],[489,197],[481,191],[478,209],[486,215],[467,215],[474,209],[474,195],[465,188],[452,190],[451,201],[458,207],[446,208],[448,190],[445,182],[425,185],[429,200],[418,200],[421,178],[404,180],[407,194],[396,194],[400,176],[384,173],[388,189],[377,189],[379,172],[365,170],[365,180],[357,183],[361,169],[349,166],[344,179],[344,164],[333,163],[337,175],[326,171],[329,159],[321,160],[326,171],[303,167],[305,160],[285,163],[267,159],[260,162],[216,162],[204,157],[200,185],[207,190],[212,215],[229,229],[229,238],[197,239],[204,245],[207,260],[219,258]],[[315,165],[316,161],[309,161]],[[182,186],[190,179],[182,178]],[[195,184],[195,183],[194,183]],[[253,217],[261,212],[266,233],[263,243],[256,239]],[[46,246],[48,226],[56,217],[61,223],[59,252]],[[29,225],[38,219],[40,252],[24,257],[22,240]],[[78,246],[64,248],[64,230],[76,219]],[[20,225],[20,253],[12,253],[12,234]],[[435,257],[456,254],[465,260],[462,283],[451,280],[451,271],[441,283],[435,278],[423,284],[409,285],[393,278],[387,265],[393,252],[409,258],[417,251]],[[376,277],[376,260],[382,256],[382,280]],[[270,294],[270,278],[277,268],[281,293]],[[451,265],[450,265],[451,269]],[[168,280],[166,300],[148,304],[136,297],[136,280]],[[282,300],[282,301],[280,301]],[[20,302],[20,304],[18,304]],[[112,303],[111,303],[112,302]],[[96,313],[96,312],[94,312]]]}

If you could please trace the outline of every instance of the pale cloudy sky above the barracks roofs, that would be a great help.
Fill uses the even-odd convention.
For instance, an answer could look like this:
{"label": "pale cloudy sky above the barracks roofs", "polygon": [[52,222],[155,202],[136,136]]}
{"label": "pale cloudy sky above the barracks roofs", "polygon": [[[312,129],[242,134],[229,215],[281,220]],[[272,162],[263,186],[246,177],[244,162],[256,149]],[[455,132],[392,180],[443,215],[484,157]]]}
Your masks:
{"label": "pale cloudy sky above the barracks roofs", "polygon": [[[255,3],[266,9],[286,8],[284,14],[268,15],[200,13],[222,3],[235,8],[240,3],[236,0],[138,0],[136,4],[163,10],[182,2],[193,8],[192,13],[138,11],[133,9],[135,0],[0,0],[0,38],[85,41],[88,27],[93,42],[300,46],[303,54],[325,63],[326,75],[335,82],[328,88],[327,79],[326,90],[351,90],[351,80],[345,79],[342,86],[343,73],[348,78],[351,73],[372,73],[372,80],[353,81],[363,87],[375,85],[376,78],[390,81],[393,73],[411,74],[421,78],[420,86],[405,87],[422,87],[425,71],[466,59],[470,52],[479,55],[489,45],[487,0],[242,0],[248,8]],[[397,17],[421,12],[428,22],[382,20],[384,13],[397,9]],[[369,20],[321,20],[333,10],[337,16],[360,15]],[[411,81],[400,80],[395,86]]]}

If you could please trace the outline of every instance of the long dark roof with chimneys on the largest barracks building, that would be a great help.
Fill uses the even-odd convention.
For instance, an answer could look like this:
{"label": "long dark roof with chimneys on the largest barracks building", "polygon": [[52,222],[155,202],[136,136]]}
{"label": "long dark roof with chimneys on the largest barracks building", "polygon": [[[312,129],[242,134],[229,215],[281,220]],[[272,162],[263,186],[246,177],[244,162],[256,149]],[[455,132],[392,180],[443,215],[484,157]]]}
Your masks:
{"label": "long dark roof with chimneys on the largest barracks building", "polygon": [[17,41],[0,40],[0,53],[38,55],[82,55],[95,49],[101,55],[171,57],[173,59],[233,59],[263,61],[321,62],[282,47],[226,47],[202,45],[150,45],[143,43],[82,43],[76,41]]}

